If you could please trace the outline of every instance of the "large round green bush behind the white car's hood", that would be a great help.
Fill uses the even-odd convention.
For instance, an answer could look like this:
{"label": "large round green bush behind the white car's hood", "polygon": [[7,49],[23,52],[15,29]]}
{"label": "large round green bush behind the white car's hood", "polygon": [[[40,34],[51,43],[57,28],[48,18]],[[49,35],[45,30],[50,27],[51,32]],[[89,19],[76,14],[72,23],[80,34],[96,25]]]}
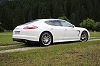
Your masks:
{"label": "large round green bush behind the white car's hood", "polygon": [[88,30],[94,30],[96,28],[96,23],[94,20],[87,18],[80,23],[81,27],[87,28]]}

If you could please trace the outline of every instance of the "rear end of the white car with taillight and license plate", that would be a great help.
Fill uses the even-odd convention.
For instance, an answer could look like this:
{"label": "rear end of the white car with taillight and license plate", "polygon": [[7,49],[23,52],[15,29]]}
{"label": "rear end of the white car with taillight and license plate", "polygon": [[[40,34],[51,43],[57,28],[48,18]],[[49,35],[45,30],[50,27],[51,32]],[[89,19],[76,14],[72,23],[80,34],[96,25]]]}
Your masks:
{"label": "rear end of the white car with taillight and license plate", "polygon": [[25,41],[39,41],[40,28],[34,23],[26,23],[17,26],[13,30],[13,41],[25,42]]}

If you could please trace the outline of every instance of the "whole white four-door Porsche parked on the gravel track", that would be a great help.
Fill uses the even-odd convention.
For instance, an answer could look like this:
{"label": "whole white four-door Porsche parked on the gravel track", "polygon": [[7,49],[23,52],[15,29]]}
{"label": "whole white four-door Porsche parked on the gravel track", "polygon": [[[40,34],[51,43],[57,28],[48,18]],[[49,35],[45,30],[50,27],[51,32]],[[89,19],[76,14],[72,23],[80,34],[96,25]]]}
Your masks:
{"label": "whole white four-door Porsche parked on the gravel track", "polygon": [[61,19],[37,19],[13,30],[13,41],[39,42],[41,46],[48,46],[56,42],[87,41],[90,33],[85,28],[75,27]]}

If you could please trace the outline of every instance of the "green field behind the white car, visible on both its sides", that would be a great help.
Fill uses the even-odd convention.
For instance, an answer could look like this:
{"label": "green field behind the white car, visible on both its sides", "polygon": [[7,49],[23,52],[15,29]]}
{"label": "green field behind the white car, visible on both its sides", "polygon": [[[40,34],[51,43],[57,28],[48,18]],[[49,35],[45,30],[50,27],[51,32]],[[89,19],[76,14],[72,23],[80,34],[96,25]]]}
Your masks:
{"label": "green field behind the white car, visible on both its sides", "polygon": [[[90,35],[92,39],[100,38],[100,32],[90,32]],[[18,42],[12,40],[12,32],[0,33],[0,46],[11,44],[19,44]]]}

